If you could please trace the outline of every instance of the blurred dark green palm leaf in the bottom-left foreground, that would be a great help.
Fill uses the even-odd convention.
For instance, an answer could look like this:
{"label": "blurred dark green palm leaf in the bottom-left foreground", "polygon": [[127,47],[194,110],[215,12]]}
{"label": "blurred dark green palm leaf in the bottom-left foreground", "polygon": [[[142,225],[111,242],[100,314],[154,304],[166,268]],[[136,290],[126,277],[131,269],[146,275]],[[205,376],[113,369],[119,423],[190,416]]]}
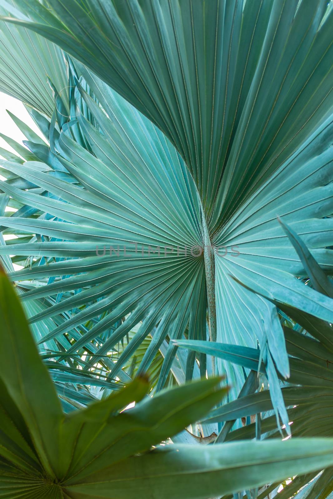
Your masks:
{"label": "blurred dark green palm leaf in the bottom-left foreground", "polygon": [[[222,444],[196,453],[191,445],[171,445],[142,454],[202,417],[228,388],[216,389],[220,379],[211,378],[145,398],[149,384],[138,377],[105,400],[65,415],[2,270],[0,311],[1,498],[199,499],[232,492],[235,484],[245,489],[279,480],[293,470],[311,472],[319,458],[322,466],[333,464],[332,439],[299,439],[292,446],[243,442],[223,446],[222,453]],[[121,411],[133,400],[134,408]]]}

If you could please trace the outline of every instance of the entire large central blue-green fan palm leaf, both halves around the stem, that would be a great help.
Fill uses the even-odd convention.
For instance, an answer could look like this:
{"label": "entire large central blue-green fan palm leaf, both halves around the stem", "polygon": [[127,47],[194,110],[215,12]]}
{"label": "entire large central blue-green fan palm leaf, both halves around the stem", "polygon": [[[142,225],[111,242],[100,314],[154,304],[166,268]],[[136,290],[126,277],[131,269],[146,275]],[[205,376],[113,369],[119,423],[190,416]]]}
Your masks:
{"label": "entire large central blue-green fan palm leaf, both halves around the stem", "polygon": [[[288,376],[275,308],[241,289],[231,275],[332,322],[326,297],[319,299],[294,278],[302,273],[302,265],[277,221],[277,215],[284,216],[317,261],[331,271],[332,255],[325,248],[332,245],[332,219],[324,217],[332,214],[333,206],[333,20],[331,11],[326,14],[326,2],[133,0],[107,5],[94,1],[88,7],[83,1],[51,0],[50,10],[38,3],[38,17],[35,4],[21,7],[34,22],[22,17],[11,21],[58,43],[158,127],[116,94],[107,91],[103,100],[94,88],[110,120],[105,125],[101,110],[79,89],[100,126],[97,132],[78,117],[93,154],[75,144],[64,127],[56,147],[61,163],[85,189],[79,189],[79,196],[76,188],[65,193],[65,186],[56,183],[55,195],[70,203],[70,209],[58,201],[51,210],[53,202],[47,201],[47,210],[67,223],[39,221],[33,229],[65,242],[35,245],[30,254],[39,250],[84,258],[57,262],[49,269],[59,275],[64,266],[68,275],[89,265],[85,284],[97,283],[94,291],[84,290],[49,313],[79,302],[75,300],[88,302],[93,292],[105,296],[112,285],[117,290],[52,334],[60,334],[102,307],[112,308],[82,340],[87,341],[131,311],[102,346],[102,353],[135,321],[144,319],[137,336],[140,341],[160,320],[156,340],[142,363],[145,369],[154,347],[167,333],[181,335],[188,324],[189,336],[205,336],[207,289],[212,339],[216,327],[219,341],[256,347],[257,340],[261,344],[267,340],[278,370]],[[87,72],[85,78],[90,85]],[[110,170],[117,175],[112,174],[112,181]],[[29,175],[27,169],[24,175]],[[144,182],[148,175],[151,180]],[[44,181],[43,175],[34,180],[37,185]],[[55,193],[53,185],[43,186]],[[10,224],[18,227],[14,218]],[[127,244],[133,236],[146,246],[212,245],[215,253],[214,257],[208,251],[198,257],[150,255],[143,260],[132,250],[130,260],[118,258],[112,277],[104,278],[114,257],[96,258],[91,246],[109,246],[110,241]],[[66,242],[69,239],[74,243]],[[229,251],[221,257],[219,246],[237,246],[240,255]],[[17,251],[23,248],[15,245]],[[143,264],[148,265],[144,270]],[[126,270],[126,283],[121,269]],[[148,277],[150,270],[152,278],[156,275],[156,289]],[[82,279],[70,277],[62,284],[81,288]],[[59,289],[58,283],[52,286],[33,290],[25,298]],[[165,372],[173,354],[170,347]],[[241,386],[242,371],[227,370],[229,379]]]}

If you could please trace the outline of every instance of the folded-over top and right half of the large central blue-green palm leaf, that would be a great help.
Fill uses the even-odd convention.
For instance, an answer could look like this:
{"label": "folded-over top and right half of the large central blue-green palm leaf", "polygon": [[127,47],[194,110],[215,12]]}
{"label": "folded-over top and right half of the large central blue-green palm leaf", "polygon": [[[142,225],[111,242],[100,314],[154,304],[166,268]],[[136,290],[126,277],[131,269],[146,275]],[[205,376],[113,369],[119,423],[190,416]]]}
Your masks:
{"label": "folded-over top and right half of the large central blue-green palm leaf", "polygon": [[[190,239],[215,248],[213,254],[204,251],[211,338],[256,346],[257,338],[263,343],[273,330],[281,347],[284,342],[273,308],[240,290],[229,274],[247,285],[255,281],[291,306],[312,302],[314,314],[331,321],[328,302],[316,302],[312,290],[293,277],[300,272],[299,259],[277,221],[277,215],[284,216],[304,235],[320,265],[332,271],[330,252],[324,250],[332,244],[331,219],[323,219],[333,208],[328,186],[333,18],[326,1],[245,2],[243,8],[236,0],[209,5],[131,0],[107,6],[93,1],[89,7],[83,1],[51,0],[50,9],[38,2],[38,15],[34,4],[20,5],[31,20],[7,21],[74,55],[156,124],[171,141],[169,151],[173,144],[183,158],[199,198],[195,217],[200,227],[193,228]],[[112,108],[117,105],[111,100]],[[96,132],[80,123],[92,147]],[[137,133],[137,124],[134,129]],[[61,153],[68,155],[72,146],[64,136],[61,143]],[[95,144],[95,154],[105,162],[101,149]],[[68,157],[77,163],[78,156],[76,150]],[[180,156],[176,163],[182,162]],[[94,162],[84,154],[81,158]],[[87,185],[84,174],[80,181]],[[117,186],[122,188],[121,179]],[[151,236],[146,234],[146,244],[156,241]],[[77,238],[81,241],[82,235]],[[225,258],[219,257],[221,246],[230,250]],[[192,275],[198,279],[199,274]],[[282,350],[278,359],[269,343],[278,370],[288,377],[287,355]],[[241,371],[227,367],[227,373],[235,386],[242,385]]]}

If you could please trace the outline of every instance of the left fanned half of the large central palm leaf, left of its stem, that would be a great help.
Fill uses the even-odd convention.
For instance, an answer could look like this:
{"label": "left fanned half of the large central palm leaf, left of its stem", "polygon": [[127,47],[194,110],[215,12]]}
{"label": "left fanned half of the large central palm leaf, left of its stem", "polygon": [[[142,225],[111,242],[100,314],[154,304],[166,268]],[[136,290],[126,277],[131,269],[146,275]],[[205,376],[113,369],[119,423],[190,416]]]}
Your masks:
{"label": "left fanned half of the large central palm leaf, left of its stem", "polygon": [[[203,258],[196,255],[202,238],[200,209],[184,162],[163,134],[107,88],[103,90],[108,101],[104,93],[103,103],[109,118],[78,82],[77,86],[100,130],[83,114],[78,114],[80,130],[92,153],[73,140],[70,125],[75,125],[75,120],[69,122],[69,126],[63,124],[54,145],[61,151],[57,160],[78,185],[37,172],[29,168],[28,163],[23,168],[12,162],[3,163],[7,170],[48,191],[50,196],[20,191],[3,182],[1,187],[7,195],[48,216],[36,219],[11,216],[1,218],[1,223],[8,226],[9,222],[11,228],[18,230],[29,224],[32,233],[48,238],[22,247],[15,244],[15,254],[62,259],[32,265],[30,269],[14,272],[12,278],[47,276],[52,279],[52,276],[77,274],[52,279],[47,285],[36,286],[21,296],[30,302],[81,290],[69,297],[64,295],[53,306],[32,317],[35,322],[86,305],[40,342],[59,337],[105,313],[67,348],[68,354],[76,353],[84,346],[90,348],[91,341],[130,314],[104,338],[91,360],[95,364],[143,320],[111,371],[114,376],[157,323],[139,371],[149,367],[166,335],[182,336],[190,320],[191,331],[197,331],[196,338],[203,338],[203,332],[206,335],[204,266]],[[98,98],[103,99],[102,93]],[[79,113],[78,108],[76,112]],[[26,144],[38,154],[34,144]],[[8,245],[2,248],[2,254],[11,250]],[[197,310],[196,316],[193,310]],[[174,351],[172,347],[166,353],[160,386],[169,373]],[[203,362],[201,368],[205,372]]]}

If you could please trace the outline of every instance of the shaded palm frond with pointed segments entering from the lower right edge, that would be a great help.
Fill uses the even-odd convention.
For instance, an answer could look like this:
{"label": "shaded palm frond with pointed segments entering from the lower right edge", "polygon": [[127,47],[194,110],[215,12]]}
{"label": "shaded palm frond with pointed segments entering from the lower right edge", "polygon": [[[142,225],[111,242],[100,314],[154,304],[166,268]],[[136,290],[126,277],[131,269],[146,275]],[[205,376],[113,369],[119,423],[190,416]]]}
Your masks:
{"label": "shaded palm frond with pointed segments entering from the lower right edge", "polygon": [[[329,296],[333,307],[332,280],[318,265],[304,241],[286,223],[281,223],[300,255],[305,272],[310,277],[308,285],[312,285],[318,292]],[[291,317],[285,315],[286,320],[283,326],[291,376],[287,384],[282,381],[281,394],[283,404],[288,410],[293,437],[331,437],[333,435],[332,324],[276,300],[274,303],[281,307],[281,314],[286,312]],[[268,376],[269,362],[266,347],[259,352],[253,348],[222,343],[213,344],[203,341],[180,341],[178,343],[181,347],[215,355],[251,369],[238,399],[226,404],[223,408],[214,409],[205,420],[205,423],[223,424],[216,443],[251,438],[271,439],[277,436],[275,416],[272,414],[274,401],[268,389],[264,389],[264,384],[258,383],[258,380],[255,383],[256,378],[259,378],[259,373],[262,373],[261,378]],[[246,389],[247,386],[251,386],[252,389]],[[257,393],[254,393],[256,390],[258,390]],[[251,418],[251,421],[248,421],[243,428],[235,429],[234,422],[239,418],[243,420]],[[256,421],[253,422],[253,419]],[[232,428],[234,431],[230,431]],[[282,432],[281,428],[280,432]],[[309,499],[329,497],[332,492],[332,468],[328,468],[317,477],[316,475],[313,473],[292,477],[293,480],[280,493],[281,499],[288,499],[303,488]],[[307,487],[312,480],[314,483]],[[274,489],[277,485],[279,484],[272,484],[271,487]],[[259,497],[261,499],[266,497],[273,490],[271,487]]]}

